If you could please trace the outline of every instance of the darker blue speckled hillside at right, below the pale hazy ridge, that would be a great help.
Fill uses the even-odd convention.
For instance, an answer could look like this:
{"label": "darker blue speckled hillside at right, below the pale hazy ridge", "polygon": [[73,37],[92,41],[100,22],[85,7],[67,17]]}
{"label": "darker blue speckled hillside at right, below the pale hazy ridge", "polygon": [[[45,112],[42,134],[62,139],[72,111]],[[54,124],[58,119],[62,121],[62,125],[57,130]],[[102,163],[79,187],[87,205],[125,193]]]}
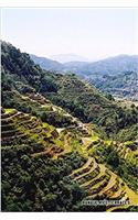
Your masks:
{"label": "darker blue speckled hillside at right, below the pale hazy ridge", "polygon": [[125,72],[117,76],[99,75],[89,80],[102,91],[112,94],[114,97],[138,101],[137,72]]}

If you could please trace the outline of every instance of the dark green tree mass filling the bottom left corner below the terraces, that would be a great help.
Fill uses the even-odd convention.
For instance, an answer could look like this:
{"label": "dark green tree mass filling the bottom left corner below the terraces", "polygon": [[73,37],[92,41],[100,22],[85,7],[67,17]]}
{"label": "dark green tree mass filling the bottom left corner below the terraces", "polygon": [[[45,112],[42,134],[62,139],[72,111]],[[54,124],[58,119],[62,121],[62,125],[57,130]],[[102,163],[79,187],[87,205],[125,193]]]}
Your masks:
{"label": "dark green tree mass filling the bottom left corner below the terraces", "polygon": [[85,193],[66,175],[73,168],[72,161],[81,164],[82,158],[75,154],[64,161],[32,158],[30,150],[19,146],[2,150],[2,210],[77,210]]}

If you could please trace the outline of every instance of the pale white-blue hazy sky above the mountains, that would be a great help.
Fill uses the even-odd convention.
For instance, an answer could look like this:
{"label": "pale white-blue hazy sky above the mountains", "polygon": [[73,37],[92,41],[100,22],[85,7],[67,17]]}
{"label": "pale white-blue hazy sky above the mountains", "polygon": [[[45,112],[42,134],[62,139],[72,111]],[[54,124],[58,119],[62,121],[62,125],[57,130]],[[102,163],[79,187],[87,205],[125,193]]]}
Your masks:
{"label": "pale white-blue hazy sky above the mountains", "polygon": [[40,56],[136,54],[136,9],[3,9],[2,40]]}

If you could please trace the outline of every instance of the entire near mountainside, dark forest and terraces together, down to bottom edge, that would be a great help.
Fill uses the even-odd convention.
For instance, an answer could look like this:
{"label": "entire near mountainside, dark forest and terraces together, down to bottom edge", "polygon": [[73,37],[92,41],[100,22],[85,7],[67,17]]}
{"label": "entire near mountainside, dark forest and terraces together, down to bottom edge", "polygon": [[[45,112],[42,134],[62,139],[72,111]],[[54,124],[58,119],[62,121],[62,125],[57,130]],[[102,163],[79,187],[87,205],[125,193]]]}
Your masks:
{"label": "entire near mountainside, dark forest and terraces together, down to bottom edge", "polygon": [[137,210],[137,108],[1,48],[2,211]]}

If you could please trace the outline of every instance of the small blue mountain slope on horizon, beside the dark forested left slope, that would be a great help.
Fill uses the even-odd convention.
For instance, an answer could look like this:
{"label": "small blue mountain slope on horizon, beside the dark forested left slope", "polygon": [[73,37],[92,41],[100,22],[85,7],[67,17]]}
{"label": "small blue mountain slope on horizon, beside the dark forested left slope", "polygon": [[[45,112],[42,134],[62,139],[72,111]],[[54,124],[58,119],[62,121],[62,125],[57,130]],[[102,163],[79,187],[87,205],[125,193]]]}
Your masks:
{"label": "small blue mountain slope on horizon, beside the dark forested left slope", "polygon": [[30,54],[31,59],[41,66],[41,68],[46,69],[46,70],[62,70],[63,65],[59,62],[45,58],[45,57],[40,57],[35,56],[33,54]]}

